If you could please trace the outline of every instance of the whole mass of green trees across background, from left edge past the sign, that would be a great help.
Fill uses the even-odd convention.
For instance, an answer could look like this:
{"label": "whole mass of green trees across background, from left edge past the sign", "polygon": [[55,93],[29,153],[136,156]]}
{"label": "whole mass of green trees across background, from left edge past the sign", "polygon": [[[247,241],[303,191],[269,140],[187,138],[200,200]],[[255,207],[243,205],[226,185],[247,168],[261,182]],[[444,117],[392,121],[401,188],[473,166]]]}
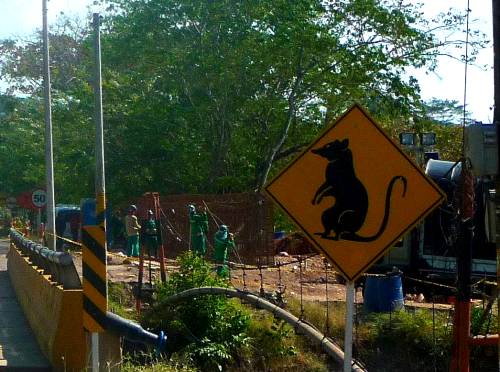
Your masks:
{"label": "whole mass of green trees across background, from left edge past the sign", "polygon": [[[451,35],[463,23],[453,12],[426,19],[420,5],[399,0],[103,2],[115,205],[151,190],[260,189],[353,102],[397,135],[425,111],[408,68],[432,70],[437,55],[460,46]],[[50,38],[56,199],[74,202],[94,184],[92,37],[61,18]],[[471,50],[482,45],[474,39]],[[40,50],[39,34],[0,41],[9,84],[0,97],[0,161],[8,164],[0,189],[8,193],[44,184]],[[442,121],[450,107],[434,105],[429,117]]]}

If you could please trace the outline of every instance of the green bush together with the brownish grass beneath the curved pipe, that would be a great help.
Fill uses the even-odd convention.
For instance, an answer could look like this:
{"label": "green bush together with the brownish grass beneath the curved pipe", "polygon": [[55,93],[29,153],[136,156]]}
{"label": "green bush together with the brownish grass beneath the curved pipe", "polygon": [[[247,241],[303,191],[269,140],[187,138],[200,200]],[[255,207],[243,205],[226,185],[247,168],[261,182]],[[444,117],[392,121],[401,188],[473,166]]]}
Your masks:
{"label": "green bush together with the brownish grass beneath the curved pipe", "polygon": [[179,271],[158,289],[158,305],[143,316],[149,328],[169,335],[169,353],[180,355],[203,371],[227,370],[326,371],[324,361],[296,346],[297,337],[286,323],[269,314],[251,312],[238,300],[200,296],[162,306],[163,298],[189,288],[225,287],[202,258],[187,252],[178,258]]}

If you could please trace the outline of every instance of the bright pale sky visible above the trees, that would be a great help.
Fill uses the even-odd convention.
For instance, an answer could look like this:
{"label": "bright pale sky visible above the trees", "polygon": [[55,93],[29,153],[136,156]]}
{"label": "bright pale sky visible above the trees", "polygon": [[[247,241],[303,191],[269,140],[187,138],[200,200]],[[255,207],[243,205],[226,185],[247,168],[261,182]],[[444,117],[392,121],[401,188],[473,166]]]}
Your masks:
{"label": "bright pale sky visible above the trees", "polygon": [[[203,1],[203,0],[200,0]],[[426,17],[432,17],[450,7],[467,9],[467,0],[420,0],[424,4]],[[49,0],[48,21],[52,23],[60,12],[68,15],[87,14],[87,7],[92,0]],[[491,0],[470,0],[470,17],[474,27],[479,28],[492,39]],[[0,0],[0,39],[32,33],[41,28],[42,0]],[[477,57],[478,66],[469,65],[467,71],[467,109],[472,118],[483,123],[493,119],[493,47],[482,50]],[[432,98],[452,99],[463,103],[464,72],[463,63],[450,58],[440,58],[435,72],[411,71],[421,86],[424,100]]]}

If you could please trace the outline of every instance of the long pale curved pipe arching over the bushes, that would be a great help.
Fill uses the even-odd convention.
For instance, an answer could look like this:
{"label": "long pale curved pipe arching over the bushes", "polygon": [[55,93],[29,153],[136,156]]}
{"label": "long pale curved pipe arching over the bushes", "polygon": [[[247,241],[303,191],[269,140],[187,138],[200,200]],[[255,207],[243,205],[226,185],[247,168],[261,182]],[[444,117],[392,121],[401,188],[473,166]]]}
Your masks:
{"label": "long pale curved pipe arching over the bushes", "polygon": [[[295,331],[298,333],[303,333],[306,337],[312,340],[314,343],[320,345],[323,350],[330,355],[333,359],[339,363],[344,362],[344,352],[331,340],[329,340],[325,335],[315,329],[313,326],[304,323],[299,318],[290,314],[288,311],[283,310],[277,305],[272,304],[258,296],[255,296],[248,292],[242,292],[237,289],[232,288],[220,288],[220,287],[200,287],[188,289],[186,291],[177,293],[164,299],[159,305],[165,305],[172,302],[177,302],[185,298],[196,297],[198,295],[224,295],[228,297],[236,297],[241,300],[252,304],[257,308],[261,308],[271,312],[276,318],[282,319],[291,326],[294,327]],[[364,372],[366,371],[361,367],[356,361],[352,363],[352,371]]]}

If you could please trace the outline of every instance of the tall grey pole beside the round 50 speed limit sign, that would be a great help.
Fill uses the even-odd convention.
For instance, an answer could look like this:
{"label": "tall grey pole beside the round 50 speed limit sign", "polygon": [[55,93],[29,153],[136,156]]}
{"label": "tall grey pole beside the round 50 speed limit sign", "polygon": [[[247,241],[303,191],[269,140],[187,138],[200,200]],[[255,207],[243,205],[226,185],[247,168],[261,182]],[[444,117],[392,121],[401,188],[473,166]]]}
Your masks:
{"label": "tall grey pole beside the round 50 speed limit sign", "polygon": [[45,106],[45,178],[47,183],[47,245],[56,249],[54,205],[54,157],[52,154],[52,107],[50,98],[49,31],[47,27],[47,0],[42,0],[43,13],[43,85]]}

